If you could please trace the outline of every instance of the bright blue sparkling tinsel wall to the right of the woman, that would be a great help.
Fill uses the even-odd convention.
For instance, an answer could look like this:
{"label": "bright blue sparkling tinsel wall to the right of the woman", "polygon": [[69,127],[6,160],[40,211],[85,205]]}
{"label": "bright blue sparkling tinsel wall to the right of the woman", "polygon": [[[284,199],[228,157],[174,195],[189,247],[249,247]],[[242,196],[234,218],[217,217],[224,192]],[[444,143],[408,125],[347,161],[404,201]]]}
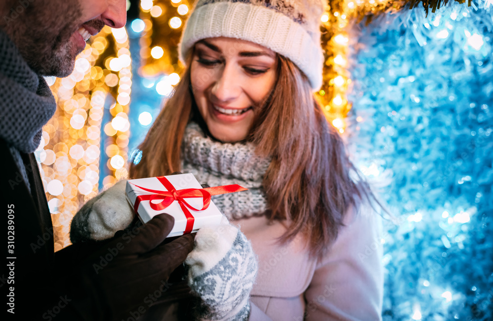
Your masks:
{"label": "bright blue sparkling tinsel wall to the right of the woman", "polygon": [[[384,320],[493,320],[493,9],[357,26],[352,154],[395,215]],[[387,186],[385,186],[387,185]]]}

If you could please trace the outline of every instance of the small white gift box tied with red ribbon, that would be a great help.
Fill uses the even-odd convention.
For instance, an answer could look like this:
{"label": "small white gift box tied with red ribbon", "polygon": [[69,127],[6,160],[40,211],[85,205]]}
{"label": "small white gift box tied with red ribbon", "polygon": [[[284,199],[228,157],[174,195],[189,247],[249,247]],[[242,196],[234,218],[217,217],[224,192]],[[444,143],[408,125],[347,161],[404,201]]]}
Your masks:
{"label": "small white gift box tied with red ribbon", "polygon": [[[200,186],[193,174],[178,174],[164,177],[173,185],[178,193],[179,190],[183,189],[202,189],[202,186]],[[127,195],[127,200],[132,208],[134,208],[138,196],[155,194],[153,192],[145,191],[139,188],[139,186],[149,190],[168,191],[157,177],[128,180],[125,192]],[[175,226],[173,226],[173,229],[167,237],[183,235],[187,225],[187,217],[185,216],[185,213],[177,200],[174,200],[169,206],[162,210],[154,210],[151,208],[150,202],[157,204],[162,202],[163,198],[164,196],[156,200],[141,200],[137,208],[137,215],[141,219],[142,223],[147,223],[154,216],[161,213],[167,213],[175,218]],[[184,200],[196,209],[201,209],[203,206],[202,197],[187,197],[184,198]],[[212,201],[210,202],[209,207],[205,210],[196,211],[190,207],[187,207],[187,210],[194,218],[193,229],[191,231],[192,233],[198,231],[201,227],[217,225],[221,221],[222,213],[217,209]]]}

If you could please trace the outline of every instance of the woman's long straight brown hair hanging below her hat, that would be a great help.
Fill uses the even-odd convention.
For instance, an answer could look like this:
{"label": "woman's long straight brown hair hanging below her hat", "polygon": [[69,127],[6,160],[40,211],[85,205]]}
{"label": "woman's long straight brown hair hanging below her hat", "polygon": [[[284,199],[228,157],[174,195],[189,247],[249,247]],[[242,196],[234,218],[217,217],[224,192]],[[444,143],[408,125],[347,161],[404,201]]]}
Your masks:
{"label": "woman's long straight brown hair hanging below her hat", "polygon": [[[271,222],[289,223],[280,241],[301,232],[310,254],[321,256],[336,239],[348,209],[375,198],[349,160],[338,131],[327,123],[307,77],[289,59],[277,59],[277,82],[247,140],[256,144],[255,153],[272,157],[262,185],[269,209],[265,215]],[[180,170],[181,141],[194,116],[193,104],[187,67],[140,145],[142,158],[131,164],[131,178]]]}

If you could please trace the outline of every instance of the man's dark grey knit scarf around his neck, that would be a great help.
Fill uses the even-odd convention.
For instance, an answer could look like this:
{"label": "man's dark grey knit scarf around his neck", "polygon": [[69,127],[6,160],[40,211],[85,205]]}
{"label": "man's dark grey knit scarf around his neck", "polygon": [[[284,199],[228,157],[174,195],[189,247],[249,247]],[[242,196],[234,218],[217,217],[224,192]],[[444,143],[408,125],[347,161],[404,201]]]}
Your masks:
{"label": "man's dark grey knit scarf around his neck", "polygon": [[24,61],[14,43],[0,30],[0,137],[29,187],[20,153],[32,153],[56,102],[48,84]]}

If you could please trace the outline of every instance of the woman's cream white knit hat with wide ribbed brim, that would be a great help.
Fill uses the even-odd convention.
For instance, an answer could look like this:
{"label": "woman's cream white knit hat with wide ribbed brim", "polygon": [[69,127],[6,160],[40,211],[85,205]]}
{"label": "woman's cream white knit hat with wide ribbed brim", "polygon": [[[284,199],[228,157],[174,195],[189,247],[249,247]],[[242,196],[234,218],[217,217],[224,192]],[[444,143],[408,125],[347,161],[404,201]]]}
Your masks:
{"label": "woman's cream white knit hat with wide ribbed brim", "polygon": [[183,60],[205,38],[251,41],[289,58],[314,90],[322,84],[323,0],[198,0],[181,38]]}

